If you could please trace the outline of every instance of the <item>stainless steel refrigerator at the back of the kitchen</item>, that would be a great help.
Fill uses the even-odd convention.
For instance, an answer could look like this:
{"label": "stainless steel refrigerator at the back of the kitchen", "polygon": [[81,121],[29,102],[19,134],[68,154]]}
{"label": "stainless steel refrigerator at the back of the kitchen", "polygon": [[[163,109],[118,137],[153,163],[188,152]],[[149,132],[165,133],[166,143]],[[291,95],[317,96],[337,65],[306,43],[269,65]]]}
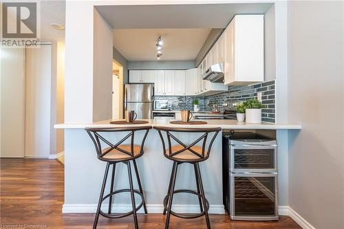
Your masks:
{"label": "stainless steel refrigerator at the back of the kitchen", "polygon": [[153,84],[125,85],[125,111],[135,111],[138,119],[151,119]]}

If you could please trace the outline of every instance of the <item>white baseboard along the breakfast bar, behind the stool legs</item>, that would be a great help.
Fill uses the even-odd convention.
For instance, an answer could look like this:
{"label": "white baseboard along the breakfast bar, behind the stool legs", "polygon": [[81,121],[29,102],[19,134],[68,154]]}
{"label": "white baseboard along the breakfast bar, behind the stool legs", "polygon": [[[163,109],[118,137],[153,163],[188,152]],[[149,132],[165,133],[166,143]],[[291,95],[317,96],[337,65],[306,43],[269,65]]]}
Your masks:
{"label": "white baseboard along the breakfast bar, behind the stool legs", "polygon": [[[63,213],[94,213],[96,212],[97,204],[63,204]],[[114,204],[112,207],[114,212],[129,212],[132,210],[131,204]],[[102,210],[107,210],[107,204],[102,206]],[[162,204],[147,204],[147,211],[149,213],[162,213],[164,206]],[[183,213],[197,213],[200,212],[200,206],[198,204],[174,204],[172,210],[175,212]],[[138,213],[143,213],[143,208],[138,210]],[[210,214],[225,214],[223,205],[211,205],[209,206]]]}

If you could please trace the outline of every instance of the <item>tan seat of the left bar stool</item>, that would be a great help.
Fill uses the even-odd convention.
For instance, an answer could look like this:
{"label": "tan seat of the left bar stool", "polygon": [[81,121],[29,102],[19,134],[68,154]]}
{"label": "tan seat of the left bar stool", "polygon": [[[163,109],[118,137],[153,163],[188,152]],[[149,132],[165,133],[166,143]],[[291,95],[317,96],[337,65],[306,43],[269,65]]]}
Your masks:
{"label": "tan seat of the left bar stool", "polygon": [[[138,157],[140,155],[140,149],[141,146],[134,144],[133,145],[133,158]],[[122,144],[121,146],[118,146],[118,149],[111,149],[111,147],[107,147],[102,150],[102,157],[105,159],[111,159],[111,160],[127,160],[131,158],[131,155],[128,155],[125,152],[131,152],[131,146],[130,144]]]}

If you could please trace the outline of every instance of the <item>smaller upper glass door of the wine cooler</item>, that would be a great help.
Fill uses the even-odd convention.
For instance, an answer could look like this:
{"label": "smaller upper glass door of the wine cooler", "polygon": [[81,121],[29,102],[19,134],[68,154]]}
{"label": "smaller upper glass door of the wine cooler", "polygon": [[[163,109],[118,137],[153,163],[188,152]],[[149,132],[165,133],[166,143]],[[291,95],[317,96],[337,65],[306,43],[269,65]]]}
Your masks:
{"label": "smaller upper glass door of the wine cooler", "polygon": [[277,146],[230,145],[231,172],[277,172]]}

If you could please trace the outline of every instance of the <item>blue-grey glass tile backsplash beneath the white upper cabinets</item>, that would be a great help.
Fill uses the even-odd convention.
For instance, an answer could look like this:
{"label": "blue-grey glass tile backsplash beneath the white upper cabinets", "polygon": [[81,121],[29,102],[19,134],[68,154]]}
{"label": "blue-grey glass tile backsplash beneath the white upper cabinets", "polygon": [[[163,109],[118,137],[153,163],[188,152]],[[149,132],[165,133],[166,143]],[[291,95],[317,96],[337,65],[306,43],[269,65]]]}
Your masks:
{"label": "blue-grey glass tile backsplash beneath the white upper cabinets", "polygon": [[201,111],[211,111],[213,104],[222,109],[225,100],[245,101],[257,98],[258,92],[261,92],[261,102],[265,105],[261,111],[262,121],[275,122],[275,80],[250,86],[229,86],[228,91],[213,96],[154,96],[154,99],[171,100],[173,110],[193,109],[193,100],[197,99]]}

